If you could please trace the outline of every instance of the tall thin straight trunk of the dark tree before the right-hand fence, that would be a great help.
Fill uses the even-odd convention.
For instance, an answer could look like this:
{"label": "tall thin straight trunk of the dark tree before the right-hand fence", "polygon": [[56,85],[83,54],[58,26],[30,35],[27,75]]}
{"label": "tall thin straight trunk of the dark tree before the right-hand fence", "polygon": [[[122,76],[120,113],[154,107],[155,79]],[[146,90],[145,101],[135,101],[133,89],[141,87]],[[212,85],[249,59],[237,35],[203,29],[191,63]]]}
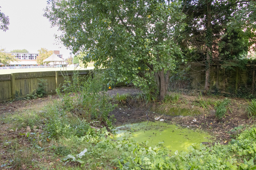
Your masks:
{"label": "tall thin straight trunk of the dark tree before the right-hand fence", "polygon": [[206,31],[206,82],[204,89],[206,91],[210,90],[210,61],[211,61],[211,1],[207,1],[207,31]]}

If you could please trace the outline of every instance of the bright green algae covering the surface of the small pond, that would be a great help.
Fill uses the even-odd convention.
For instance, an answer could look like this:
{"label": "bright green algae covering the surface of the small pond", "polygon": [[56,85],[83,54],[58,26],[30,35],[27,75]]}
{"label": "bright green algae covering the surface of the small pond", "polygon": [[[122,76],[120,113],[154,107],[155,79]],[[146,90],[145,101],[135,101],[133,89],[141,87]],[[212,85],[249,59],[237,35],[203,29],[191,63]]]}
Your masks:
{"label": "bright green algae covering the surface of the small pond", "polygon": [[149,146],[164,142],[164,147],[167,147],[172,153],[188,151],[187,148],[190,145],[198,147],[200,143],[210,140],[211,136],[208,133],[190,128],[164,122],[127,124],[116,128],[114,139],[122,140],[123,137],[127,137],[138,143],[148,141]]}

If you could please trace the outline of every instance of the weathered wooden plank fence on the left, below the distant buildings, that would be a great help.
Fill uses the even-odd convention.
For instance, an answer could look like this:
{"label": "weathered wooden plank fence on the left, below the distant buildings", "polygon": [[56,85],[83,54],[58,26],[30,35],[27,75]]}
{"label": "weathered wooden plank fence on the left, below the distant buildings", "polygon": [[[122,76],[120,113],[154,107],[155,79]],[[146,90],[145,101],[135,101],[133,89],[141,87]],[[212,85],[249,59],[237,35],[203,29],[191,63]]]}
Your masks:
{"label": "weathered wooden plank fence on the left, below the distant buildings", "polygon": [[[86,76],[92,70],[78,70],[80,76]],[[21,72],[0,75],[0,102],[24,98],[39,87],[40,79],[46,80],[46,93],[56,92],[64,83],[64,75],[72,76],[74,71]]]}

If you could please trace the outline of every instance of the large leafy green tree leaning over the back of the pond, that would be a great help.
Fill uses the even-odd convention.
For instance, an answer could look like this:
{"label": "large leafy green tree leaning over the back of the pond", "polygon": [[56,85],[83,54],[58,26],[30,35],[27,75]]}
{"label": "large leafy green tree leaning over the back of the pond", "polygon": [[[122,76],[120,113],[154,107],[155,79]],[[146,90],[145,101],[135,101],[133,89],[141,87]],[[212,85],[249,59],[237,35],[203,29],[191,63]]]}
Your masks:
{"label": "large leafy green tree leaning over the back of the pond", "polygon": [[170,72],[182,60],[175,42],[185,15],[179,2],[49,1],[44,16],[62,34],[58,37],[82,60],[103,66],[117,82],[132,81],[145,90],[167,94]]}

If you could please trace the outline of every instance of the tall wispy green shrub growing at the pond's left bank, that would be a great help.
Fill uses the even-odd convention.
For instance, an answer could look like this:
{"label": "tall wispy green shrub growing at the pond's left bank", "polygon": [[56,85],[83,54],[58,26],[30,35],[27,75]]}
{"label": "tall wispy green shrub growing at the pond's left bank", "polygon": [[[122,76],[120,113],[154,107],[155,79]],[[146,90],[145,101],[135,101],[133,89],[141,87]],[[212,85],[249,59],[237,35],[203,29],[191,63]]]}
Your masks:
{"label": "tall wispy green shrub growing at the pond's left bank", "polygon": [[96,119],[112,128],[113,119],[109,117],[109,112],[113,111],[116,105],[110,102],[110,97],[104,91],[106,89],[102,83],[103,77],[94,72],[93,79],[90,75],[86,79],[80,79],[78,71],[73,74],[72,79],[65,75],[65,72],[63,75],[64,94],[60,93],[60,88],[57,93],[62,98],[65,111],[77,110],[81,118],[88,121]]}

